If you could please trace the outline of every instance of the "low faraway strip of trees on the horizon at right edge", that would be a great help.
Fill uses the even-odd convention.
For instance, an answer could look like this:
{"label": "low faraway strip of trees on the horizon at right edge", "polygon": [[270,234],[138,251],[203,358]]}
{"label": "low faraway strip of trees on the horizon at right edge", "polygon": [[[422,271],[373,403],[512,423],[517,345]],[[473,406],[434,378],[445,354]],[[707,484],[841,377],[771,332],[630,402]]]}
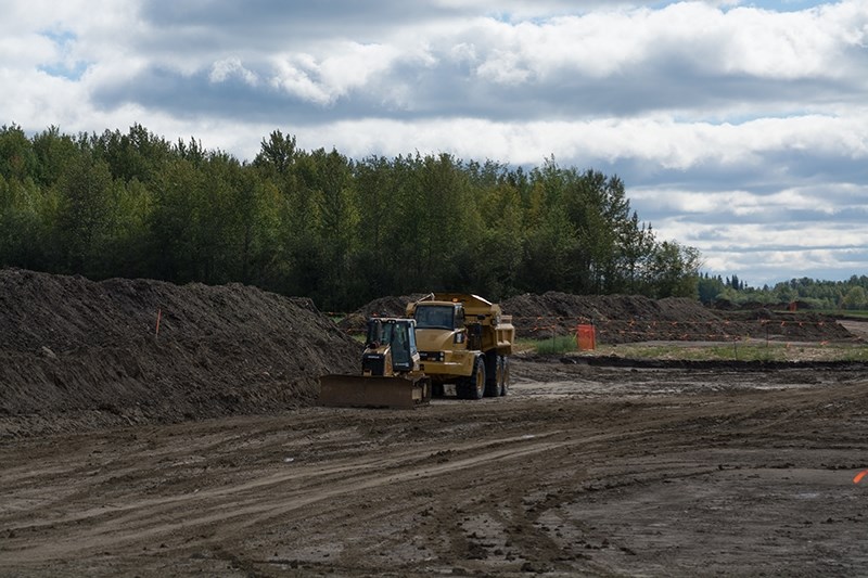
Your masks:
{"label": "low faraway strip of trees on the horizon at right edge", "polygon": [[738,275],[723,278],[703,273],[699,297],[706,305],[729,301],[736,305],[780,305],[802,301],[814,309],[868,309],[868,277],[852,275],[847,281],[820,281],[803,277],[775,286],[751,287]]}

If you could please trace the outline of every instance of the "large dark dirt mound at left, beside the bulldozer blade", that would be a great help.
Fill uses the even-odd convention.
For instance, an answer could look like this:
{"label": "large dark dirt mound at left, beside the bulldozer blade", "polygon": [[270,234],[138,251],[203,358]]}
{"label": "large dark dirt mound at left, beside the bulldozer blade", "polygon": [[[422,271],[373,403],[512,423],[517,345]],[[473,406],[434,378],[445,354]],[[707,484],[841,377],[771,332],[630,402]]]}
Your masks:
{"label": "large dark dirt mound at left, beside the bulldozer blade", "polygon": [[284,410],[360,355],[308,299],[240,284],[5,269],[0,327],[0,437]]}

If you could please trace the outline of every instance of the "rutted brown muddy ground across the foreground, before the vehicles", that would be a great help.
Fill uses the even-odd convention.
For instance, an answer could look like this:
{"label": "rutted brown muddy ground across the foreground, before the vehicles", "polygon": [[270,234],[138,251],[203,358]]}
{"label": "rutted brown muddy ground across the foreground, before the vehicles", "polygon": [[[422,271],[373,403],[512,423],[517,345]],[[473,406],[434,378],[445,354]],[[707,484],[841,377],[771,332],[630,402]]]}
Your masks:
{"label": "rutted brown muddy ground across the foreground, before the vehicles", "polygon": [[507,398],[0,446],[3,576],[858,575],[865,367],[518,360]]}

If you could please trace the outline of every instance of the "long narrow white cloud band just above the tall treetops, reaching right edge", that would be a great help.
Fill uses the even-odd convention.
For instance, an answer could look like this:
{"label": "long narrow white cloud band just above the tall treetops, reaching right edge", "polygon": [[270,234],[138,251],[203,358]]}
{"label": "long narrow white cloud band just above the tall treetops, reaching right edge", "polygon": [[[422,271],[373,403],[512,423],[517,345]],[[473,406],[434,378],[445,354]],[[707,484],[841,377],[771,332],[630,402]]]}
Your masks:
{"label": "long narrow white cloud band just above the tall treetops, reaching right edge", "polygon": [[[311,133],[317,133],[318,127]],[[666,118],[588,121],[496,123],[476,118],[412,121],[348,120],[327,129],[342,150],[355,151],[357,134],[372,150],[395,153],[412,145],[422,151],[448,149],[465,157],[536,164],[559,158],[612,162],[639,159],[669,169],[702,165],[760,166],[768,153],[809,151],[867,159],[868,113],[850,118],[762,119],[742,126],[679,124]],[[346,147],[346,149],[344,149]]]}

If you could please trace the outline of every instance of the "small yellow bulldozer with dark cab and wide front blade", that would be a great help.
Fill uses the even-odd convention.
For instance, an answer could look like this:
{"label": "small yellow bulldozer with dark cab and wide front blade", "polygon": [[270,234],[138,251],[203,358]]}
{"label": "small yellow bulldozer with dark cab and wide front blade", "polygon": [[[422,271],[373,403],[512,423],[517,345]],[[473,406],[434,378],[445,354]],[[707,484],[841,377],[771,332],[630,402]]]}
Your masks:
{"label": "small yellow bulldozer with dark cab and wide front blade", "polygon": [[412,319],[368,320],[361,374],[320,377],[322,406],[414,408],[430,400],[431,380],[419,364]]}

